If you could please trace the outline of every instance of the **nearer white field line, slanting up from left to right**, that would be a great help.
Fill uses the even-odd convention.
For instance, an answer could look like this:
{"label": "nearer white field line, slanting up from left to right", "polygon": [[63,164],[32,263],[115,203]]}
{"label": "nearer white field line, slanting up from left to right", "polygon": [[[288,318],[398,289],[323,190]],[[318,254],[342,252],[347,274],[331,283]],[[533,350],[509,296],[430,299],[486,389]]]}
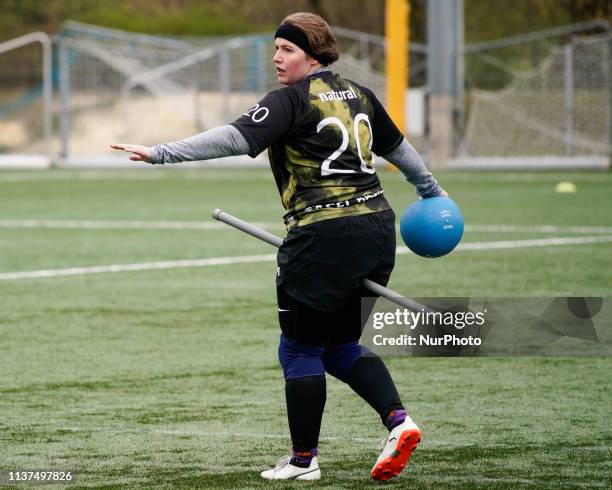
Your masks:
{"label": "nearer white field line, slanting up from left to right", "polygon": [[[457,250],[500,250],[517,249],[529,247],[550,247],[560,245],[582,245],[590,243],[612,242],[612,235],[607,236],[585,236],[585,237],[553,237],[533,240],[503,240],[496,242],[471,242],[462,243]],[[397,247],[399,255],[412,253],[406,247]],[[236,257],[215,257],[210,259],[191,260],[167,260],[161,262],[143,262],[137,264],[113,264],[98,265],[90,267],[71,267],[67,269],[46,269],[37,271],[0,272],[0,281],[11,281],[18,279],[40,279],[47,277],[75,276],[85,274],[100,274],[106,272],[145,271],[157,269],[175,269],[186,267],[208,267],[216,265],[244,264],[254,262],[270,262],[276,260],[275,254],[265,255],[243,255]]]}

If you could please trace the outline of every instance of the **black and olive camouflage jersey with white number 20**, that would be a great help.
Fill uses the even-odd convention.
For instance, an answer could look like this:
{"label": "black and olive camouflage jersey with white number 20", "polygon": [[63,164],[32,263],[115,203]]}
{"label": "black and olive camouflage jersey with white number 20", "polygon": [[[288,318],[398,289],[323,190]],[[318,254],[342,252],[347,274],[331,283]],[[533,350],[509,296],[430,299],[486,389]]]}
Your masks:
{"label": "black and olive camouflage jersey with white number 20", "polygon": [[372,152],[392,152],[403,135],[369,89],[316,72],[270,92],[232,125],[251,157],[268,148],[288,229],[389,209]]}

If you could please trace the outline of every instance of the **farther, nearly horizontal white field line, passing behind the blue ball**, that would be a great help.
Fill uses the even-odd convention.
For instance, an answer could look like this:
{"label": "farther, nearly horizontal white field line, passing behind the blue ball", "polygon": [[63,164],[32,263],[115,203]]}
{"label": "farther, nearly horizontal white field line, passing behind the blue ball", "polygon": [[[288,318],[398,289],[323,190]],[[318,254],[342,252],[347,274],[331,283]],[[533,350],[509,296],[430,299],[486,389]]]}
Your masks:
{"label": "farther, nearly horizontal white field line, passing behind the blue ball", "polygon": [[[280,222],[254,222],[265,229],[284,230]],[[218,221],[142,221],[142,220],[54,220],[0,219],[0,228],[57,228],[57,229],[151,229],[151,230],[220,230],[230,229]],[[555,225],[466,225],[468,232],[492,233],[612,233],[612,226],[555,226]]]}

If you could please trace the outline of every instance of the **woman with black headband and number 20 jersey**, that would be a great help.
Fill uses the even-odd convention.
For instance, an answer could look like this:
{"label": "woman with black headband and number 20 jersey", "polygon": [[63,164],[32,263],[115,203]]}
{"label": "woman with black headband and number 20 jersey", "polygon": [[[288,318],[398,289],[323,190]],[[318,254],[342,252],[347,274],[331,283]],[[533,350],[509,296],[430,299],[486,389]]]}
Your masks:
{"label": "woman with black headband and number 20 jersey", "polygon": [[361,297],[368,296],[361,283],[368,278],[386,285],[395,260],[395,215],[372,152],[394,163],[422,198],[446,193],[374,94],[326,68],[339,53],[325,20],[290,15],[274,44],[284,87],[230,125],[152,148],[112,147],[133,153],[131,160],[157,164],[255,157],[268,148],[288,229],[276,285],[293,453],[261,476],[321,477],[317,445],[329,373],[368,402],[389,430],[371,472],[386,480],[402,471],[421,434],[383,361],[359,345]]}

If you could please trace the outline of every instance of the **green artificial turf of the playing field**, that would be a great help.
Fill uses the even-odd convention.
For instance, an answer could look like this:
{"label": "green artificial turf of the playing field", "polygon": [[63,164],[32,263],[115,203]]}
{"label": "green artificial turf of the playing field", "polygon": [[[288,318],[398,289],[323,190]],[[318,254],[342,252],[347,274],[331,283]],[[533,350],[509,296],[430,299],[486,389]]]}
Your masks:
{"label": "green artificial turf of the playing field", "polygon": [[[465,215],[464,243],[612,235],[610,174],[437,175]],[[412,188],[397,173],[381,179],[399,214]],[[555,193],[562,180],[577,192]],[[283,233],[268,170],[0,173],[0,222],[212,222],[216,207]],[[0,274],[273,253],[229,228],[0,227]],[[404,254],[390,287],[421,297],[610,297],[611,263],[611,242]],[[297,486],[259,477],[290,446],[274,273],[265,260],[0,280],[0,469],[72,470],[70,488]],[[423,431],[388,485],[609,485],[609,358],[386,361]],[[384,428],[330,377],[321,436],[317,486],[377,486],[369,470]]]}

